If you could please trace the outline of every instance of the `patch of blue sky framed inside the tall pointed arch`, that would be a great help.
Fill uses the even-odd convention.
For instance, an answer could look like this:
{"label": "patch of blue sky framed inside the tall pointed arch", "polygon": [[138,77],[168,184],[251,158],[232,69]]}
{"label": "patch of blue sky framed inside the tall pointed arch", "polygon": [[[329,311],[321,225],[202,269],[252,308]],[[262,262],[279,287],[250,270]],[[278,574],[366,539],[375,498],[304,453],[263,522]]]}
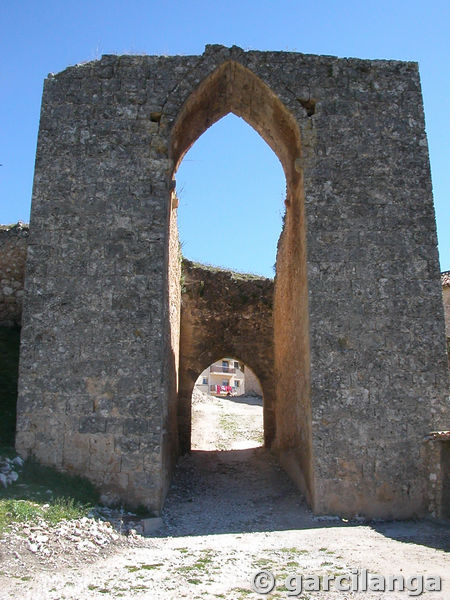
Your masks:
{"label": "patch of blue sky framed inside the tall pointed arch", "polygon": [[176,173],[183,256],[274,277],[286,178],[261,136],[233,113],[193,144]]}

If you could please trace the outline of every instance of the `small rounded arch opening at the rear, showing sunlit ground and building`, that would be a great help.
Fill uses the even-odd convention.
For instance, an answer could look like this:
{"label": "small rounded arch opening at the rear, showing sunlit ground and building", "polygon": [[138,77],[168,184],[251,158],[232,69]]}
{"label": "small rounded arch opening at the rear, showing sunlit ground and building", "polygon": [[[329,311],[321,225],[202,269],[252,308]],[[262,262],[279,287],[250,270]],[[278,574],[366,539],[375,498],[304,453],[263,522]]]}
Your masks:
{"label": "small rounded arch opening at the rear, showing sunlit ground and building", "polygon": [[192,390],[191,450],[247,450],[263,445],[263,391],[257,376],[235,357],[214,361],[200,373]]}

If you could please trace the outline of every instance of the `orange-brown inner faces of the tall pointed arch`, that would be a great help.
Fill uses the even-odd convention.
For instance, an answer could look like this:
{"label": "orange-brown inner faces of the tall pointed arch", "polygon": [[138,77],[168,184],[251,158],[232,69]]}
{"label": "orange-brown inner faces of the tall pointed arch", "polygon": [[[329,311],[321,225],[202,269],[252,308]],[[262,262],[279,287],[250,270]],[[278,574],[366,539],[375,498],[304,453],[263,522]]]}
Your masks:
{"label": "orange-brown inner faces of the tall pointed arch", "polygon": [[[173,177],[198,137],[230,112],[243,118],[261,135],[280,160],[286,177],[286,214],[278,242],[270,314],[272,362],[268,376],[270,394],[266,397],[264,411],[265,444],[279,455],[283,466],[312,502],[308,293],[302,155],[297,121],[259,77],[241,64],[228,60],[200,83],[179,113],[171,137]],[[201,314],[199,294],[191,299],[190,314],[181,300],[177,285],[177,276],[181,277],[177,206],[174,184],[169,219],[169,272],[172,272],[169,298],[174,315],[177,304],[181,304],[180,338],[173,339],[172,347],[179,349],[179,448],[185,452],[190,450],[191,392],[200,372],[196,368],[198,359],[193,356],[192,346],[196,346],[197,356],[202,359],[207,356],[213,359],[217,353],[212,347],[215,344],[208,339],[211,323],[202,327],[198,322],[192,322],[192,315],[196,312]],[[194,307],[192,302],[195,305],[196,301]],[[235,315],[246,310],[244,306],[234,308]],[[223,332],[227,323],[223,322],[221,315],[216,314],[213,321],[215,331]],[[176,332],[174,322],[174,338]],[[238,336],[231,346],[223,348],[224,354],[241,356],[245,360],[249,349],[243,349],[242,344],[245,348],[246,343]],[[206,364],[210,362],[212,360]]]}

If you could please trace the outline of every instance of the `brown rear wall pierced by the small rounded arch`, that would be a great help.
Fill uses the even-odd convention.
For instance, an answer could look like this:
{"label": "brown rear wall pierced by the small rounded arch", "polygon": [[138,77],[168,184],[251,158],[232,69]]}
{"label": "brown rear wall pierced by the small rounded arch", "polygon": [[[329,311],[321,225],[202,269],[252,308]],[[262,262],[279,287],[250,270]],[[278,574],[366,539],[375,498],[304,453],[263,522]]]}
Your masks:
{"label": "brown rear wall pierced by the small rounded arch", "polygon": [[[223,356],[256,373],[264,395],[264,439],[274,422],[273,281],[183,260],[180,333],[180,439],[190,449],[191,394],[200,373]],[[247,384],[246,384],[247,385]]]}

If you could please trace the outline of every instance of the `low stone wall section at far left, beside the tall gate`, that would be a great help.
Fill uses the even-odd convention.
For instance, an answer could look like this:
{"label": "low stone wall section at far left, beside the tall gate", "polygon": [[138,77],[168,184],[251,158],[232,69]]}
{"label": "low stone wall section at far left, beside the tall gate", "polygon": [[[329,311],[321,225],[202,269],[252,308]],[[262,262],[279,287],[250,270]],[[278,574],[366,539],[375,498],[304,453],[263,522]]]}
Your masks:
{"label": "low stone wall section at far left, beside the tall gate", "polygon": [[0,326],[20,325],[29,228],[0,225]]}

